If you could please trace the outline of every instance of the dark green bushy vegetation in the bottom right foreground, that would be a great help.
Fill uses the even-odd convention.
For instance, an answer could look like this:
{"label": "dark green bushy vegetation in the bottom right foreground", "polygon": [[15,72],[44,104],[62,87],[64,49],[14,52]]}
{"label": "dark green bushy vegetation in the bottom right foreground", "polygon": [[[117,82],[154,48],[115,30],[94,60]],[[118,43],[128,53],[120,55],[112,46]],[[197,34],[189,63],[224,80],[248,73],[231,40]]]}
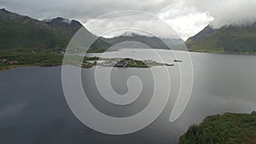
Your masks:
{"label": "dark green bushy vegetation in the bottom right foreground", "polygon": [[191,125],[179,144],[253,144],[256,143],[256,112],[224,113],[210,116],[200,125]]}

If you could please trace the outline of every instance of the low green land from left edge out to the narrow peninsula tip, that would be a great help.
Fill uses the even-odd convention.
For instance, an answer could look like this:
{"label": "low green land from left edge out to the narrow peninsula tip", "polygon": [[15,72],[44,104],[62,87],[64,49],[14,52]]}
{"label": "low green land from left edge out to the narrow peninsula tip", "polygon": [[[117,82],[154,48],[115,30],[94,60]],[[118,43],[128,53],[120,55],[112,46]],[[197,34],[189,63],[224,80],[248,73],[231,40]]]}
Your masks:
{"label": "low green land from left edge out to the narrow peninsula tip", "polygon": [[[55,49],[56,52],[49,50],[15,49],[0,51],[0,71],[19,66],[60,66],[63,60],[63,51]],[[69,55],[68,64],[79,66],[79,55]],[[104,62],[98,63],[98,60]],[[119,63],[119,62],[123,63]],[[82,61],[83,68],[93,66],[118,66],[119,67],[149,67],[149,66],[173,66],[172,64],[159,63],[152,60],[132,60],[129,58],[101,59],[99,57],[86,57]],[[124,64],[124,65],[123,65]]]}

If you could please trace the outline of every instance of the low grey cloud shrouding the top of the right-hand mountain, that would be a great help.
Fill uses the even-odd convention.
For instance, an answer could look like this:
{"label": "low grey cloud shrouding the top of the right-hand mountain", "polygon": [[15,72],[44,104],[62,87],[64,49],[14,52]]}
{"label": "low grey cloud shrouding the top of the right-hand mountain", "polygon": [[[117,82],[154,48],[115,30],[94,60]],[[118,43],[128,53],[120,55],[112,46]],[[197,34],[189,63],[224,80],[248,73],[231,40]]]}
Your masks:
{"label": "low grey cloud shrouding the top of the right-hand mountain", "polygon": [[255,0],[190,0],[183,3],[185,7],[194,7],[214,18],[211,25],[250,25],[256,21]]}

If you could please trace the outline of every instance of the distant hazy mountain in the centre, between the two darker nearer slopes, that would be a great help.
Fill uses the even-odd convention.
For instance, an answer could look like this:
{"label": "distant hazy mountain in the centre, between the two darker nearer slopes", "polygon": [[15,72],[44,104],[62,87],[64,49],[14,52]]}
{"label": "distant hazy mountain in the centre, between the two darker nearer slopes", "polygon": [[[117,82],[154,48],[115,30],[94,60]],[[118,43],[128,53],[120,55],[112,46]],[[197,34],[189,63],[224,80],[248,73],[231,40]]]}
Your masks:
{"label": "distant hazy mountain in the centre, between the two darker nearer slopes", "polygon": [[[171,47],[171,49],[178,49],[182,47],[184,44],[183,40],[180,38],[174,39],[174,38],[161,38],[161,37],[152,37],[152,36],[146,36],[141,35],[135,32],[125,32],[123,35],[120,35],[119,37],[112,37],[112,38],[103,38],[105,42],[110,43],[111,45],[121,43],[121,42],[138,42],[138,43],[122,43],[122,48],[141,48],[142,45],[139,43],[147,44],[148,47],[151,49],[170,49],[168,46]],[[168,46],[167,46],[168,45]]]}

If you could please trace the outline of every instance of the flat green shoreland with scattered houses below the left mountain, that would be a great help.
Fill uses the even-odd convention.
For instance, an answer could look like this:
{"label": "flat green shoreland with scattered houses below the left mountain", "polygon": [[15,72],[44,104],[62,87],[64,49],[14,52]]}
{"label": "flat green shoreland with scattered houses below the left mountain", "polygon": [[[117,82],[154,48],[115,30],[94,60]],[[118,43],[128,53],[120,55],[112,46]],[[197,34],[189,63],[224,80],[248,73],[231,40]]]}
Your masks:
{"label": "flat green shoreland with scattered houses below the left mountain", "polygon": [[[0,71],[19,66],[60,66],[63,60],[63,52],[50,51],[30,51],[30,49],[20,49],[15,51],[0,51]],[[79,60],[79,56],[72,56],[71,60]],[[84,57],[84,68],[96,66],[96,63],[87,62],[88,60],[99,60],[98,57]],[[72,64],[72,63],[71,63]]]}

